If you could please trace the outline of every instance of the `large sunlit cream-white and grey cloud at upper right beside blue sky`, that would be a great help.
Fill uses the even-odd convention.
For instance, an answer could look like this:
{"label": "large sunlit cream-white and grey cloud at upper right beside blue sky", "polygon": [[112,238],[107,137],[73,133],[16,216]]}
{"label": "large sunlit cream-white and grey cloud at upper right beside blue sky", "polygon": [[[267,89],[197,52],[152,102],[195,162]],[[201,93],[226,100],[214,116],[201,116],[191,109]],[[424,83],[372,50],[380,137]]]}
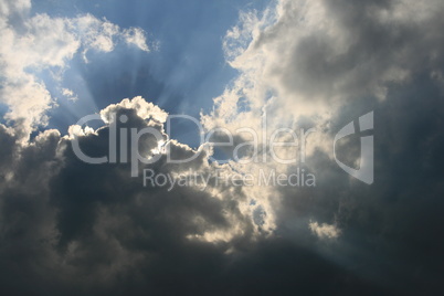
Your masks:
{"label": "large sunlit cream-white and grey cloud at upper right beside blue sky", "polygon": [[202,125],[261,130],[265,112],[268,130],[310,121],[317,131],[306,157],[320,150],[332,158],[331,123],[345,106],[383,102],[390,86],[443,61],[443,2],[411,2],[279,0],[264,12],[242,12],[223,42],[239,77],[214,98]]}

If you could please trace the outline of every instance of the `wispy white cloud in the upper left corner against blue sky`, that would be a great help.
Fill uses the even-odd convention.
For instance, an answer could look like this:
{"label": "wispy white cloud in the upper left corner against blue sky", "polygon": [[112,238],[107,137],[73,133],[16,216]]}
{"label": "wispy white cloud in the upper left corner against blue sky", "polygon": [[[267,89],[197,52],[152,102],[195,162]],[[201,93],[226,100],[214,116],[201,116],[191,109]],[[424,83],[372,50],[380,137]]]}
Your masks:
{"label": "wispy white cloud in the upper left corner against blue sky", "polygon": [[[0,4],[0,102],[8,105],[6,118],[15,123],[24,141],[36,126],[46,124],[45,112],[55,101],[39,76],[43,70],[63,75],[75,54],[82,52],[87,61],[88,51],[109,52],[119,42],[148,51],[141,29],[121,30],[91,14],[72,19],[30,15],[30,1]],[[56,80],[60,83],[61,77]]]}

